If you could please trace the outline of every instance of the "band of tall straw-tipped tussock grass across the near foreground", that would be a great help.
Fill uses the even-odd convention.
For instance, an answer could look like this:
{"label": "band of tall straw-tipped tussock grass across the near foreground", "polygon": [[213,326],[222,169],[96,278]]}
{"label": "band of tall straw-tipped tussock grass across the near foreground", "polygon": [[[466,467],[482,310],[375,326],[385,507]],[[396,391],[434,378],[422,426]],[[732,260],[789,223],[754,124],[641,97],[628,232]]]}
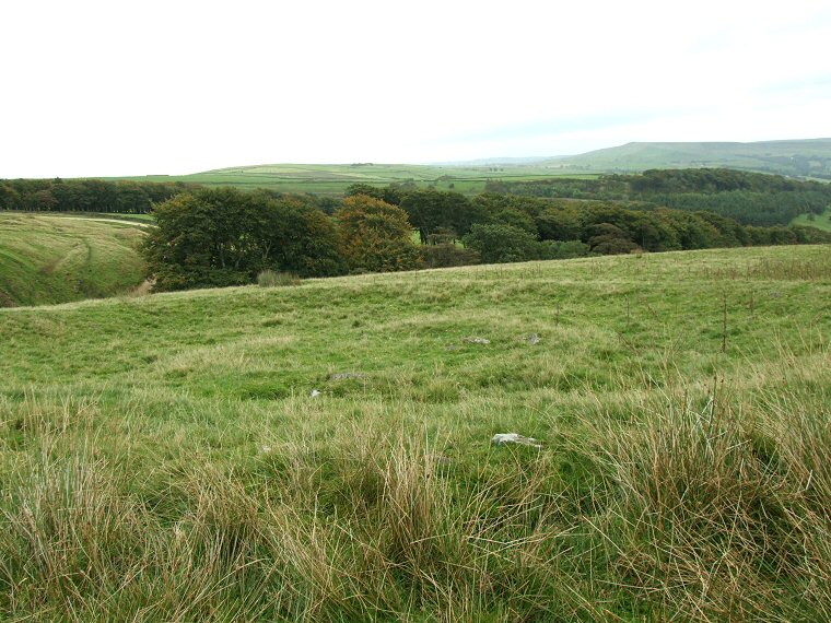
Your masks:
{"label": "band of tall straw-tipped tussock grass across the near foreground", "polygon": [[160,506],[105,458],[94,407],[27,399],[0,603],[84,621],[823,620],[831,412],[807,398],[748,414],[653,397],[634,426],[595,415],[557,451],[473,462],[353,425],[264,448],[247,472],[180,457]]}

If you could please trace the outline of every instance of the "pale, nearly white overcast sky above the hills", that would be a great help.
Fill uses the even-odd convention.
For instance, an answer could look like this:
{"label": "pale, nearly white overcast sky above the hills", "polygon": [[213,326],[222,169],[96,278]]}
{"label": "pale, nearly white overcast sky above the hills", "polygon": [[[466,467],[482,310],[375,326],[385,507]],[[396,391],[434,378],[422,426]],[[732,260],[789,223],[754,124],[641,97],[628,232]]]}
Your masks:
{"label": "pale, nearly white overcast sky above the hills", "polygon": [[5,0],[0,178],[831,137],[831,3]]}

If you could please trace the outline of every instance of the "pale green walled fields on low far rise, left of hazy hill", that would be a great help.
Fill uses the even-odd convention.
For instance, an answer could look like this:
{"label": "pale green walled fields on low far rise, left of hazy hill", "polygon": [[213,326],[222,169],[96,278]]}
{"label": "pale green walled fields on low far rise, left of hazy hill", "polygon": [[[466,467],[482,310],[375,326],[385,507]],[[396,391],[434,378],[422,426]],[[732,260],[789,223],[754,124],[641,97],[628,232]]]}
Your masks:
{"label": "pale green walled fields on low far rise, left of hazy hill", "polygon": [[[511,181],[549,178],[562,175],[559,167],[537,165],[394,165],[394,164],[273,164],[241,166],[192,175],[128,177],[139,181],[185,181],[203,186],[269,188],[280,192],[342,195],[351,184],[387,186],[412,181],[426,188],[477,193],[488,180]],[[570,175],[575,177],[575,175]],[[576,175],[576,177],[585,177]],[[592,177],[592,175],[589,175]]]}

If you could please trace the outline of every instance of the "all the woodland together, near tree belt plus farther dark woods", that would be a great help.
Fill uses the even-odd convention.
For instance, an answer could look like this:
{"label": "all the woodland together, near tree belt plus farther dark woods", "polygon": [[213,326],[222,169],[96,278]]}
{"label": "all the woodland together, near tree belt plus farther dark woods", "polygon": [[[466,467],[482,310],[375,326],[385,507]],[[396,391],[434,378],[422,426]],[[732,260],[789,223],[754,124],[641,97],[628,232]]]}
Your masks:
{"label": "all the woodland together, near tree belt plus farther dark woods", "polygon": [[326,277],[831,242],[816,228],[784,226],[830,203],[828,185],[723,169],[501,181],[476,197],[409,183],[358,184],[342,199],[182,184],[0,180],[0,210],[155,208],[159,226],[145,252],[161,290],[250,283],[266,269]]}

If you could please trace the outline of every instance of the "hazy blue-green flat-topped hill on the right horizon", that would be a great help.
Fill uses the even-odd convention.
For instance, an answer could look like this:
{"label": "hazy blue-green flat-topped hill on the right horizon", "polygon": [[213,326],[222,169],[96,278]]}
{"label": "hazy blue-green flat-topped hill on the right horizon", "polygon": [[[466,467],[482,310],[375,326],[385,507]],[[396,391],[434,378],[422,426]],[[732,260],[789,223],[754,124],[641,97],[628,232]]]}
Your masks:
{"label": "hazy blue-green flat-topped hill on the right horizon", "polygon": [[543,166],[576,173],[631,173],[649,168],[722,167],[831,179],[831,139],[752,143],[627,143]]}

